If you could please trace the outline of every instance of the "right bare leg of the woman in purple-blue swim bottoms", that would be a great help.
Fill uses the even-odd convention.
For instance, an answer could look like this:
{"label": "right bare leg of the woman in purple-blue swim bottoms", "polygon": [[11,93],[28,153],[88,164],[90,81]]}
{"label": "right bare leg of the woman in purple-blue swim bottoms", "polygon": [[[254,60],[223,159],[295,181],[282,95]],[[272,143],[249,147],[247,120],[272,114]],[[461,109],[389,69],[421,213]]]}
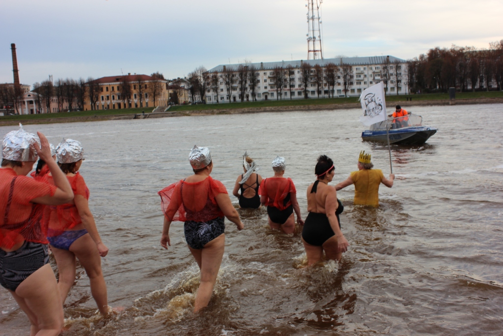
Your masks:
{"label": "right bare leg of the woman in purple-blue swim bottoms", "polygon": [[94,240],[89,233],[78,238],[71,244],[70,251],[75,254],[80,264],[86,270],[91,285],[91,294],[102,315],[107,315],[108,297],[107,285],[101,270],[101,257]]}

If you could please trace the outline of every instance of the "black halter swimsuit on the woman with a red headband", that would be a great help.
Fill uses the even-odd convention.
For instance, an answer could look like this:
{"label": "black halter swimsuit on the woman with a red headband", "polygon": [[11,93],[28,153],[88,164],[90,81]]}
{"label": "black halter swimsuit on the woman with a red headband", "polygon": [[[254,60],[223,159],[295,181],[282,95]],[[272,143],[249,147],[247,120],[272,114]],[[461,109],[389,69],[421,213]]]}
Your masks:
{"label": "black halter swimsuit on the woman with a red headband", "polygon": [[[314,182],[311,188],[311,193],[316,193],[318,186],[318,181]],[[337,207],[336,217],[339,222],[339,228],[341,228],[341,221],[339,220],[339,214],[344,211],[344,206],[339,199],[337,199],[339,206]],[[310,212],[307,215],[306,221],[304,222],[304,227],[302,229],[302,239],[309,245],[322,246],[325,241],[333,237],[332,227],[328,221],[326,214],[313,213]]]}

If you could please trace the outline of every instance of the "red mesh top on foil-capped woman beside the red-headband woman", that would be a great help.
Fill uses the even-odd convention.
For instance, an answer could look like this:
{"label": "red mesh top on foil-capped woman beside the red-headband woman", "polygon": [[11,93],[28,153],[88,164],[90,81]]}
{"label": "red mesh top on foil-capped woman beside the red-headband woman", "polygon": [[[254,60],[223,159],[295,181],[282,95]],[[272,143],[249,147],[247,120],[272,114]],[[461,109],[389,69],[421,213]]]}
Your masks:
{"label": "red mesh top on foil-capped woman beside the red-headband woman", "polygon": [[285,210],[292,204],[291,200],[283,203],[289,193],[297,193],[290,177],[268,177],[262,180],[259,187],[259,195],[268,197],[265,205],[279,210]]}

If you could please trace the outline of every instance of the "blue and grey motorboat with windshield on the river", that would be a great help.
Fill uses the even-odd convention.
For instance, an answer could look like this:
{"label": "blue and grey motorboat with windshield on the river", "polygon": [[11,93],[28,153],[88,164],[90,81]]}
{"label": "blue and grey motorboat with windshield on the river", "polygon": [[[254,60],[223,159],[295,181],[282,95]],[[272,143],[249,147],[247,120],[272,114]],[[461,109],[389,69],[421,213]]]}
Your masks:
{"label": "blue and grey motorboat with windshield on the river", "polygon": [[435,127],[423,126],[422,116],[408,114],[371,125],[362,132],[362,140],[387,144],[386,125],[389,143],[395,145],[423,145],[437,132]]}

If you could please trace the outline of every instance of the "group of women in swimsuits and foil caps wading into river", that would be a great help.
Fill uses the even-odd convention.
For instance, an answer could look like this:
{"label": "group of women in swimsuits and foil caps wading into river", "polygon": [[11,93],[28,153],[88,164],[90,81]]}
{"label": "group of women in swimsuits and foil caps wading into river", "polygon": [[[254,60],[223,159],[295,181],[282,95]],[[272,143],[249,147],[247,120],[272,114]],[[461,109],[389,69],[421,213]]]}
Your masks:
{"label": "group of women in swimsuits and foil caps wading into river", "polygon": [[[28,177],[37,157],[37,168],[32,177]],[[42,133],[38,132],[37,138],[25,132],[22,126],[9,132],[3,140],[0,284],[28,315],[31,335],[57,335],[61,331],[63,304],[74,282],[76,259],[90,279],[91,293],[100,313],[113,312],[108,306],[101,269],[101,257],[107,255],[108,248],[89,210],[89,189],[78,172],[83,160],[83,148],[78,141],[63,140],[54,149]],[[244,226],[225,186],[210,176],[213,161],[209,149],[194,146],[189,162],[194,174],[165,187],[158,194],[164,213],[162,247],[167,249],[171,245],[171,223],[184,222],[187,244],[201,271],[194,304],[197,312],[210,301],[222,261],[224,217],[238,230]],[[328,185],[335,169],[332,160],[324,155],[318,158],[317,180],[307,189],[309,215],[305,223],[300,215],[295,185],[283,176],[285,159],[277,157],[272,167],[274,176],[262,179],[256,173],[257,165],[245,153],[244,174],[237,178],[233,191],[240,207],[257,209],[266,205],[270,227],[285,233],[295,230],[295,212],[297,223],[303,225],[302,242],[308,265],[320,260],[323,251],[326,258],[340,260],[349,244],[339,223],[343,206],[337,199],[336,188]],[[391,181],[382,178],[386,181],[382,183],[391,187],[391,176]],[[350,182],[356,185],[356,181]],[[351,183],[341,182],[340,187]],[[48,245],[56,259],[57,281],[48,263]]]}

